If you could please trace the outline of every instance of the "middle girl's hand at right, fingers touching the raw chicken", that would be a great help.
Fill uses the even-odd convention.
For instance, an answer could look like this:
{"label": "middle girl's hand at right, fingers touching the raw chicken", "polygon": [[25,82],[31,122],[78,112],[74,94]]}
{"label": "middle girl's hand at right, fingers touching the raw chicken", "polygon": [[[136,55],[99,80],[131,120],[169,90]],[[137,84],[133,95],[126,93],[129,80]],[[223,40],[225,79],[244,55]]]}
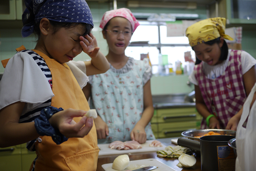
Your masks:
{"label": "middle girl's hand at right, fingers touching the raw chicken", "polygon": [[138,141],[139,144],[143,144],[147,140],[147,134],[145,132],[144,127],[136,124],[131,132],[131,139]]}

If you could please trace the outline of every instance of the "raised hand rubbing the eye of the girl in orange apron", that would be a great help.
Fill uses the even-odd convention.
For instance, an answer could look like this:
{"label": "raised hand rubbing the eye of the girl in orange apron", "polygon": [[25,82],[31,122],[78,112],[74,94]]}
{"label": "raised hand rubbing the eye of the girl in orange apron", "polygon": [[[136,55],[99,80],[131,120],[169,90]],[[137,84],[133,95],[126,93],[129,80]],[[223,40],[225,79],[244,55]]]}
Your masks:
{"label": "raised hand rubbing the eye of the girl in orange apron", "polygon": [[100,48],[97,45],[95,36],[92,33],[85,36],[80,36],[80,45],[83,48],[83,51],[88,54],[91,58],[97,56]]}

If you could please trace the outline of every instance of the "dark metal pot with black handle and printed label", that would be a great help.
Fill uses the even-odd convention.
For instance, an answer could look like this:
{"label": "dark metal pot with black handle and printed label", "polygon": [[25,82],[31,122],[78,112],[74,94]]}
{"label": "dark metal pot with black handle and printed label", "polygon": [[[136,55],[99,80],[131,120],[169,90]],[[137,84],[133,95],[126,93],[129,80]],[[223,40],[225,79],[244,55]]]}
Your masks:
{"label": "dark metal pot with black handle and printed label", "polygon": [[201,152],[202,171],[235,171],[235,154],[228,141],[235,136],[208,135],[197,140],[179,138],[178,145]]}

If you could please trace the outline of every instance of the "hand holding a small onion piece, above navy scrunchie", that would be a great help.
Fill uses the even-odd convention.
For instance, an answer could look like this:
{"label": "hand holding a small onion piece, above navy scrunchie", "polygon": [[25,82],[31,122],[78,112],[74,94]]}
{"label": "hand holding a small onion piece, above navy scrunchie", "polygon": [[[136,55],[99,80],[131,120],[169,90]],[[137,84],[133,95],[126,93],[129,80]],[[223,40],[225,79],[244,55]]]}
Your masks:
{"label": "hand holding a small onion piece, above navy scrunchie", "polygon": [[[82,138],[90,132],[93,126],[93,119],[86,118],[84,116],[85,114],[86,111],[84,110],[66,109],[53,114],[49,122],[53,127],[58,128],[59,132],[67,138]],[[75,117],[82,118],[76,123],[73,120]]]}

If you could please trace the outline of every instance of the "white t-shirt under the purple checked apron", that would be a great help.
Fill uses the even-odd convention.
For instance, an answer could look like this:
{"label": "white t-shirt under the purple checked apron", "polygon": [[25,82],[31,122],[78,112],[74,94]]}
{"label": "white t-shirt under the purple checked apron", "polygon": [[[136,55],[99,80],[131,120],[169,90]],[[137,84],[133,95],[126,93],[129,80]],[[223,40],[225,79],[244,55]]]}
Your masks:
{"label": "white t-shirt under the purple checked apron", "polygon": [[[218,64],[218,65],[208,65],[206,62],[203,62],[203,72],[207,76],[208,79],[218,78],[222,73],[224,73],[226,67],[229,63],[231,49],[229,49],[229,54],[227,60]],[[249,53],[245,51],[241,51],[241,63],[242,63],[242,73],[243,75],[251,69],[256,64],[256,59],[252,57]],[[198,85],[198,82],[195,77],[195,70],[188,77],[189,81],[195,85]]]}

